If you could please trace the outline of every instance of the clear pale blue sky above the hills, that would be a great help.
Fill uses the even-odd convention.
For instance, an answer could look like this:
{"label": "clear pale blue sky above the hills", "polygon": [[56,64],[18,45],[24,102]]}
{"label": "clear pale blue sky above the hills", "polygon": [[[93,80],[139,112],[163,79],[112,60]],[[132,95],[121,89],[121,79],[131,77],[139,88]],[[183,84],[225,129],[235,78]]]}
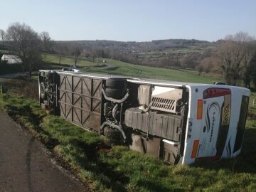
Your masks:
{"label": "clear pale blue sky above the hills", "polygon": [[255,0],[0,0],[0,28],[20,22],[53,40],[217,41],[239,31],[256,37]]}

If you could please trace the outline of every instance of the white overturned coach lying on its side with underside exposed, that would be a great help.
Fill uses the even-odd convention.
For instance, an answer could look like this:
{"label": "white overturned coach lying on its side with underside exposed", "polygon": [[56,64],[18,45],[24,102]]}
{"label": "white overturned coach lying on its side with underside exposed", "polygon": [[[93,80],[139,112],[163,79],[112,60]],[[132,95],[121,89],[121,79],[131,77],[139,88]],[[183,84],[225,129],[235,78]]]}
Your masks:
{"label": "white overturned coach lying on its side with underside exposed", "polygon": [[170,164],[238,156],[250,90],[138,78],[39,71],[41,106],[106,141]]}

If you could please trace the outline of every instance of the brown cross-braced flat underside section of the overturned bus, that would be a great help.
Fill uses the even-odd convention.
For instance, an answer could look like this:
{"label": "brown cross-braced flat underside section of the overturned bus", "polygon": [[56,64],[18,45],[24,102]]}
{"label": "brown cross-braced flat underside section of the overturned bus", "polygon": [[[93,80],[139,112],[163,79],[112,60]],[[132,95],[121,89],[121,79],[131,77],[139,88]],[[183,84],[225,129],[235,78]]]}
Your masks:
{"label": "brown cross-braced flat underside section of the overturned bus", "polygon": [[60,75],[60,116],[85,129],[100,129],[102,80]]}

